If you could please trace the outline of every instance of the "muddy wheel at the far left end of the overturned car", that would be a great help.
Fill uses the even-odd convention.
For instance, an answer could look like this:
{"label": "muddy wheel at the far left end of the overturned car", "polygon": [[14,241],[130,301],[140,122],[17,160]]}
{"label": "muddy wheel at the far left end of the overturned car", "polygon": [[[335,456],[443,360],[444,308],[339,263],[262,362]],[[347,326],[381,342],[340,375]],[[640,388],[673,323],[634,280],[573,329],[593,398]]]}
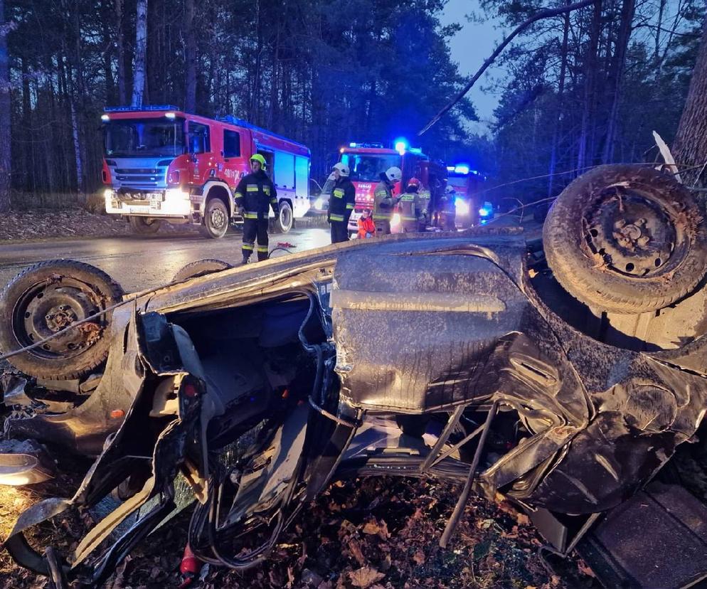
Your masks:
{"label": "muddy wheel at the far left end of the overturned car", "polygon": [[[102,270],[74,260],[40,262],[14,277],[0,294],[0,351],[31,345],[106,309],[123,290]],[[36,378],[80,378],[108,356],[111,313],[9,359]]]}

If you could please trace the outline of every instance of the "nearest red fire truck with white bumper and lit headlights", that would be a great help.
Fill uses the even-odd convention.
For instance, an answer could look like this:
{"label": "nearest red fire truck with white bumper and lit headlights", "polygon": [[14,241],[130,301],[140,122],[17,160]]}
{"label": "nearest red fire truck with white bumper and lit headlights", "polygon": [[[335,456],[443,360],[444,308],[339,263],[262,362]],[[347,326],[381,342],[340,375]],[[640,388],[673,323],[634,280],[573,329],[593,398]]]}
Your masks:
{"label": "nearest red fire truck with white bumper and lit headlights", "polygon": [[[213,120],[171,105],[110,107],[101,117],[105,137],[105,210],[127,217],[137,233],[161,223],[199,225],[220,238],[242,223],[233,191],[262,154],[277,187],[282,232],[309,210],[309,149],[233,117]],[[270,213],[272,215],[272,213]]]}

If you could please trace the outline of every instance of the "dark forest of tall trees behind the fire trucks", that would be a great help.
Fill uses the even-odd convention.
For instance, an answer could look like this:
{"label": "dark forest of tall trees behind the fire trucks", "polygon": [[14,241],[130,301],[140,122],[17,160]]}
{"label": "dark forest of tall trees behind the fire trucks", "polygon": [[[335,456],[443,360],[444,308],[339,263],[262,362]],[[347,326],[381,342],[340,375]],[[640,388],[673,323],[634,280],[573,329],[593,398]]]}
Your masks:
{"label": "dark forest of tall trees behind the fire trucks", "polygon": [[[481,0],[469,17],[510,29],[568,4]],[[307,144],[319,181],[341,145],[408,137],[502,185],[489,192],[496,201],[555,196],[597,164],[652,161],[653,130],[673,141],[704,0],[596,0],[538,21],[501,54],[501,74],[480,82],[500,97],[488,134],[470,132],[477,115],[464,99],[416,137],[466,81],[448,45],[461,26],[442,26],[444,8],[444,0],[0,0],[0,208],[27,195],[61,202],[98,191],[106,105],[244,118]]]}

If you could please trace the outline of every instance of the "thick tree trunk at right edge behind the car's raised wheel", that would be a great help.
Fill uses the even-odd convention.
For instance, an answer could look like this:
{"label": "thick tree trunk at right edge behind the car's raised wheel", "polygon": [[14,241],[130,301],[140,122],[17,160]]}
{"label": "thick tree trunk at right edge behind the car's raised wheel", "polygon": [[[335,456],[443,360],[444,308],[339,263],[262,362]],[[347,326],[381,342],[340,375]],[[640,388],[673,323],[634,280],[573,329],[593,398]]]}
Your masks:
{"label": "thick tree trunk at right edge behind the car's raised wheel", "polygon": [[707,163],[707,18],[672,152],[677,164],[697,166],[693,170],[681,170],[685,184],[707,185],[704,174]]}

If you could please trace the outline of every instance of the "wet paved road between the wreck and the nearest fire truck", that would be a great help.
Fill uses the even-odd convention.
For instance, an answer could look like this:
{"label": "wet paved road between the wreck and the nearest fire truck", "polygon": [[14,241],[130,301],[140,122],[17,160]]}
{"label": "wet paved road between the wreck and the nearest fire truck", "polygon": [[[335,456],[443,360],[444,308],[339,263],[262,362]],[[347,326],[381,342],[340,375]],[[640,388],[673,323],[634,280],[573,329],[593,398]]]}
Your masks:
{"label": "wet paved road between the wreck and the nearest fire truck", "polygon": [[[292,251],[319,248],[329,245],[329,228],[294,229],[286,235],[275,233],[270,235],[270,249],[279,241],[297,245]],[[134,292],[169,282],[179,268],[201,258],[236,264],[241,260],[240,243],[240,232],[234,232],[218,240],[200,235],[158,233],[148,238],[90,238],[0,245],[0,287],[35,262],[70,258],[100,267],[126,292]],[[276,255],[286,254],[278,252]]]}

